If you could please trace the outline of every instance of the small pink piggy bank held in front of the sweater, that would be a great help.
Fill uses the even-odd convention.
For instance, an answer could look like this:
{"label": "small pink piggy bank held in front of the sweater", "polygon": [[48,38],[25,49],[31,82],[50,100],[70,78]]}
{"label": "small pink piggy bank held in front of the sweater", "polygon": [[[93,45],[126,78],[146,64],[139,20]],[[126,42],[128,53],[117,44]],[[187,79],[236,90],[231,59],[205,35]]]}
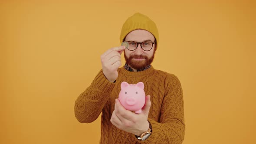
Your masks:
{"label": "small pink piggy bank held in front of the sweater", "polygon": [[135,84],[121,83],[121,91],[118,99],[123,107],[135,113],[141,113],[141,108],[145,105],[146,96],[144,92],[144,83]]}

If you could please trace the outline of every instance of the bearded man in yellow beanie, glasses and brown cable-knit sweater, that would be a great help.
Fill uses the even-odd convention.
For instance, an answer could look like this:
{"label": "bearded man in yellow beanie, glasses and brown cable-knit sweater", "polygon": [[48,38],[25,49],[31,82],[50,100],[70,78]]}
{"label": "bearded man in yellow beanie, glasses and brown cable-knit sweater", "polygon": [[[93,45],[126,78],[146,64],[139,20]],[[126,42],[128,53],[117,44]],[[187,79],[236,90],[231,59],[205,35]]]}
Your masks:
{"label": "bearded man in yellow beanie, glasses and brown cable-knit sweater", "polygon": [[[156,24],[141,13],[129,17],[120,42],[101,56],[102,70],[75,101],[75,117],[81,123],[95,121],[100,113],[101,144],[181,144],[184,140],[184,102],[179,79],[151,65],[157,49]],[[121,66],[124,51],[126,63]],[[146,102],[139,114],[118,101],[121,82],[144,83]]]}

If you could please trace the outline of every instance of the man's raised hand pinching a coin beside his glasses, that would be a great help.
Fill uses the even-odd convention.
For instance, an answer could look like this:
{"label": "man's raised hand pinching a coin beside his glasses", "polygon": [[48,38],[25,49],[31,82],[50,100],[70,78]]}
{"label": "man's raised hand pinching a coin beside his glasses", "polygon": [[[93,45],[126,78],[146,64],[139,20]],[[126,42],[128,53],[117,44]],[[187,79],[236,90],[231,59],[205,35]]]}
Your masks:
{"label": "man's raised hand pinching a coin beside his glasses", "polygon": [[108,49],[101,56],[102,71],[105,77],[114,82],[118,77],[117,69],[121,66],[121,54],[125,46]]}

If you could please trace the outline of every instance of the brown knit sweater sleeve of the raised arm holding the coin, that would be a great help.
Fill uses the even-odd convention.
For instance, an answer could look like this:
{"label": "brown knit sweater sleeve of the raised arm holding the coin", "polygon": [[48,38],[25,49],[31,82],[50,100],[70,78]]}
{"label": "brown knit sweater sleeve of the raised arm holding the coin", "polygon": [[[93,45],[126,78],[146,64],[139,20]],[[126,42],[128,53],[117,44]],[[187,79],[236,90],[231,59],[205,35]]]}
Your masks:
{"label": "brown knit sweater sleeve of the raised arm holding the coin", "polygon": [[109,82],[102,72],[96,75],[91,85],[75,101],[75,117],[81,123],[95,121],[110,97],[115,83]]}

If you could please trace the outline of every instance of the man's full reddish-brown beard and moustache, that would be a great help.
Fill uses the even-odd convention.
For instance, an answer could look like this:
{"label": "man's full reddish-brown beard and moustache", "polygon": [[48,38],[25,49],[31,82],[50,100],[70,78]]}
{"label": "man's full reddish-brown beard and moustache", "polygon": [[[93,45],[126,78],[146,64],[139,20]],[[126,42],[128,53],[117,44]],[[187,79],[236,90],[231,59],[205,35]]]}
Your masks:
{"label": "man's full reddish-brown beard and moustache", "polygon": [[[154,51],[155,53],[155,51]],[[154,59],[153,56],[149,59],[148,56],[145,55],[131,55],[129,58],[125,55],[125,61],[128,65],[130,65],[133,69],[145,69],[146,66],[150,65]],[[143,59],[143,60],[135,60],[135,59]]]}

